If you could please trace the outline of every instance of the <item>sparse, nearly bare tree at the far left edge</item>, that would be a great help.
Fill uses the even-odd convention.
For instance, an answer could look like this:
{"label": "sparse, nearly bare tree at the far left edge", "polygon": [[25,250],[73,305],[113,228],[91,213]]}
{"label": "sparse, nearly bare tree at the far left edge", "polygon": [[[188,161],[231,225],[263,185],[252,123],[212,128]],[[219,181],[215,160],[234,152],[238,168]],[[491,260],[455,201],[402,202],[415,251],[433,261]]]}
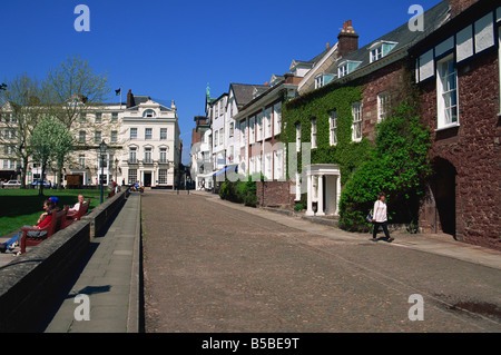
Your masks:
{"label": "sparse, nearly bare tree at the far left edge", "polygon": [[7,157],[21,162],[21,188],[26,188],[31,147],[28,139],[45,115],[43,85],[28,75],[20,75],[3,85],[0,108],[0,144]]}

